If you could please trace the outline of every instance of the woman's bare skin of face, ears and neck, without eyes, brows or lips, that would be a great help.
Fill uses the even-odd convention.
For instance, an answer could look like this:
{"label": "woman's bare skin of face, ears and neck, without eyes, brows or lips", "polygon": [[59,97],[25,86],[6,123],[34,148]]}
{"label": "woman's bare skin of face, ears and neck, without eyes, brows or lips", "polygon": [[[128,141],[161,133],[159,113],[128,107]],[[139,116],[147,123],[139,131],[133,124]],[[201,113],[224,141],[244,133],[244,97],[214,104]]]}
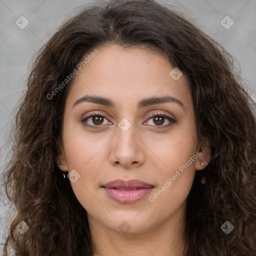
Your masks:
{"label": "woman's bare skin of face, ears and neck, without eyes, brows or lips", "polygon": [[[92,255],[182,255],[187,196],[195,171],[205,168],[201,162],[206,166],[210,158],[197,140],[188,80],[184,74],[174,80],[168,59],[149,49],[118,45],[97,49],[75,75],[67,95],[56,159],[61,170],[75,169],[80,175],[75,182],[67,182],[87,211]],[[81,102],[72,107],[85,94],[110,98],[115,106]],[[136,108],[143,98],[166,95],[179,99],[184,109],[176,102]],[[97,129],[81,122],[94,110],[105,118],[90,117],[83,123],[101,125]],[[167,127],[166,118],[164,122],[148,119],[152,113],[164,113],[176,122]],[[118,126],[123,118],[131,124],[126,131]],[[155,201],[149,201],[197,151],[197,159]],[[101,187],[117,178],[139,179],[154,188],[137,202],[119,203]],[[118,228],[123,221],[130,227],[126,233]]]}

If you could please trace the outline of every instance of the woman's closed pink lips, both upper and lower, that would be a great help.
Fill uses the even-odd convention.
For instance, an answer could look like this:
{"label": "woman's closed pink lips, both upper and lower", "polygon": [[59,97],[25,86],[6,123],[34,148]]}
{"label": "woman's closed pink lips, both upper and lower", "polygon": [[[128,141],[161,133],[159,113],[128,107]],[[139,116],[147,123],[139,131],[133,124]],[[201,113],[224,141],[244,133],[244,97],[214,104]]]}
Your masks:
{"label": "woman's closed pink lips, both upper and lower", "polygon": [[130,179],[126,181],[122,179],[115,179],[102,187],[111,199],[120,203],[132,203],[145,197],[154,186],[138,179]]}

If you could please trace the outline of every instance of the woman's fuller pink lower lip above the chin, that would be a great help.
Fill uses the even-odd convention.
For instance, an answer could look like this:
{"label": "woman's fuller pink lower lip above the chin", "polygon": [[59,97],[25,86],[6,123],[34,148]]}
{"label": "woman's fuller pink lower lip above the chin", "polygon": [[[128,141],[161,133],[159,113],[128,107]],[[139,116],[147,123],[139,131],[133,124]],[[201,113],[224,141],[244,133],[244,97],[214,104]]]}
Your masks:
{"label": "woman's fuller pink lower lip above the chin", "polygon": [[132,203],[145,197],[153,187],[138,188],[134,190],[118,190],[115,188],[103,187],[106,194],[113,200],[120,203]]}

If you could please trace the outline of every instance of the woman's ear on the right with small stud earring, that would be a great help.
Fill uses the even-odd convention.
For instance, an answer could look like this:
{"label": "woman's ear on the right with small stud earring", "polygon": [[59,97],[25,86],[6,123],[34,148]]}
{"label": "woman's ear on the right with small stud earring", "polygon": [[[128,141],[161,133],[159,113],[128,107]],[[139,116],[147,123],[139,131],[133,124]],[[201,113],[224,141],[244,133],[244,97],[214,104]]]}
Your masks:
{"label": "woman's ear on the right with small stud earring", "polygon": [[[206,137],[203,137],[200,143],[199,153],[197,154],[198,157],[195,160],[195,169],[196,170],[202,170],[204,169],[209,161],[211,160],[211,153],[210,153],[210,144],[209,140]],[[201,163],[204,164],[201,165]]]}

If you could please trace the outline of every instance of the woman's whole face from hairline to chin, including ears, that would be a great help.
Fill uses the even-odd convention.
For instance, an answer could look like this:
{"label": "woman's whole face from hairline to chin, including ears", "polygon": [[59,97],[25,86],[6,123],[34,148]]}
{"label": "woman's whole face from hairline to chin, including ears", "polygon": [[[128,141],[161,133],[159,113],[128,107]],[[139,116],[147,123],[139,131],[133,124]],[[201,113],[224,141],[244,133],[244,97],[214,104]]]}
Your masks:
{"label": "woman's whole face from hairline to chin, including ears", "polygon": [[90,227],[137,233],[182,223],[195,170],[208,163],[188,80],[148,49],[97,49],[66,98],[60,168]]}

